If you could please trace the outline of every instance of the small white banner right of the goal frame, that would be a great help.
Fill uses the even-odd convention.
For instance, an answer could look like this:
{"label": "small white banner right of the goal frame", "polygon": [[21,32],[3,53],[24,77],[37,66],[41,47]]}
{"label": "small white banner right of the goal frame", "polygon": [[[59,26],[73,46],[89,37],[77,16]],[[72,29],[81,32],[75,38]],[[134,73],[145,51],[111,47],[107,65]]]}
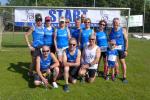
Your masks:
{"label": "small white banner right of the goal frame", "polygon": [[129,18],[129,27],[143,26],[143,15],[132,15]]}

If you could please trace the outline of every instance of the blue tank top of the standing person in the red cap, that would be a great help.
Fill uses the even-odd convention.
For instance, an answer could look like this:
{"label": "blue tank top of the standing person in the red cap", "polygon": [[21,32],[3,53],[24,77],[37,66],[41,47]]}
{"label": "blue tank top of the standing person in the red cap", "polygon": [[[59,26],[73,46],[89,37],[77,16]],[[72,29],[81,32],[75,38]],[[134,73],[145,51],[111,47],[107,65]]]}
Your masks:
{"label": "blue tank top of the standing person in the red cap", "polygon": [[52,27],[50,30],[47,27],[44,28],[44,45],[52,46],[54,43],[53,38],[54,28]]}

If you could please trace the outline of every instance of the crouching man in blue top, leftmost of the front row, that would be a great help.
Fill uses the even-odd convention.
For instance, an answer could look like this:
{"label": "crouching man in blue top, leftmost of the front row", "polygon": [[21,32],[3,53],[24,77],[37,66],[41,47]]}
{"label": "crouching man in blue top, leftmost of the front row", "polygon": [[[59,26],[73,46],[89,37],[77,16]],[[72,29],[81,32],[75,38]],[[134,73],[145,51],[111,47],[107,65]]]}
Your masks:
{"label": "crouching man in blue top, leftmost of the front row", "polygon": [[59,73],[59,62],[53,53],[50,53],[50,49],[48,46],[42,47],[42,53],[36,58],[36,74],[34,76],[34,84],[36,86],[44,83],[45,86],[48,85],[48,77],[51,72],[55,72],[53,74],[53,82],[52,85],[54,88],[58,88],[56,83],[57,76]]}

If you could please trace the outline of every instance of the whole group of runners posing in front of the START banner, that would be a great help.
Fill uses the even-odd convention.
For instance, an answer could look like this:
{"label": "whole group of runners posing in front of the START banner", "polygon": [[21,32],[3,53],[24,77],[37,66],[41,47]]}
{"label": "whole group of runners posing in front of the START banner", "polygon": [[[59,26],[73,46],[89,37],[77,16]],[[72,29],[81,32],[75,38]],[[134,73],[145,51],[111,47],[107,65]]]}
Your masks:
{"label": "whole group of runners posing in front of the START banner", "polygon": [[[35,24],[25,33],[25,40],[31,50],[32,64],[29,75],[34,73],[36,86],[48,85],[49,80],[58,88],[57,79],[65,80],[64,91],[69,91],[69,82],[94,82],[101,59],[104,63],[104,78],[114,81],[119,74],[119,64],[123,69],[123,82],[126,79],[125,57],[128,50],[128,37],[125,28],[120,27],[119,18],[113,19],[110,33],[106,33],[107,22],[100,20],[98,29],[91,29],[91,20],[83,14],[75,20],[75,27],[69,27],[69,19],[60,17],[59,26],[52,27],[51,17],[46,16],[44,25],[41,14],[35,15]],[[29,36],[32,35],[32,41]],[[56,54],[56,55],[55,55]]]}

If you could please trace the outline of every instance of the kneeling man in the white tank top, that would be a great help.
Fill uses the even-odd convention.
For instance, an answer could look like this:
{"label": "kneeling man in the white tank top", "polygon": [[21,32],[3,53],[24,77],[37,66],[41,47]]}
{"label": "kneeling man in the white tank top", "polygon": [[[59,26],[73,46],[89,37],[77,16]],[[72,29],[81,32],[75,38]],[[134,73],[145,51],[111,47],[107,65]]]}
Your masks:
{"label": "kneeling man in the white tank top", "polygon": [[79,76],[81,81],[84,81],[86,73],[88,73],[88,82],[94,82],[96,77],[96,71],[98,68],[98,61],[101,56],[100,48],[95,44],[96,36],[91,35],[89,37],[89,45],[86,46],[82,53],[82,65],[79,70]]}

